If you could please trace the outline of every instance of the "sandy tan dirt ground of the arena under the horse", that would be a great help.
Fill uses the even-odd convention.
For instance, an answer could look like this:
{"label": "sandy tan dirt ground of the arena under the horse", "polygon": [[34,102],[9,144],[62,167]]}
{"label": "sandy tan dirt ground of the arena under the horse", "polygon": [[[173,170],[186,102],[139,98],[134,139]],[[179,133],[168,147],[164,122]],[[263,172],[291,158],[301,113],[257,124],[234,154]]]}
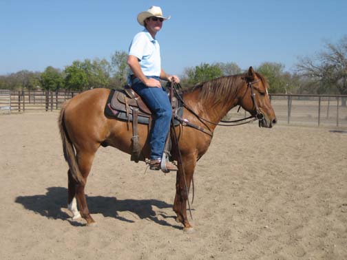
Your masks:
{"label": "sandy tan dirt ground of the arena under the horse", "polygon": [[347,259],[347,133],[218,127],[198,162],[195,228],[174,219],[174,174],[111,147],[86,188],[97,226],[66,209],[58,113],[0,116],[0,258]]}

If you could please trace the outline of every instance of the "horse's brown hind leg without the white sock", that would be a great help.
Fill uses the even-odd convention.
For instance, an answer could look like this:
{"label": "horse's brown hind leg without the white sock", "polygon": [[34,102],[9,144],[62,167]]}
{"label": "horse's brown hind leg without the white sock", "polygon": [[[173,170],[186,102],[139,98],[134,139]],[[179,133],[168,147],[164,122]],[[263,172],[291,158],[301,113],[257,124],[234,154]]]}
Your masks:
{"label": "horse's brown hind leg without the white sock", "polygon": [[[76,199],[78,202],[78,207],[83,219],[87,221],[87,225],[92,225],[95,223],[94,219],[90,216],[90,212],[87,206],[87,200],[85,199],[85,184],[87,184],[87,177],[90,173],[90,169],[92,168],[92,162],[94,159],[95,153],[77,153],[77,164],[78,168],[81,171],[81,174],[84,179],[84,184],[76,184]],[[72,199],[72,203],[74,203],[74,199]]]}

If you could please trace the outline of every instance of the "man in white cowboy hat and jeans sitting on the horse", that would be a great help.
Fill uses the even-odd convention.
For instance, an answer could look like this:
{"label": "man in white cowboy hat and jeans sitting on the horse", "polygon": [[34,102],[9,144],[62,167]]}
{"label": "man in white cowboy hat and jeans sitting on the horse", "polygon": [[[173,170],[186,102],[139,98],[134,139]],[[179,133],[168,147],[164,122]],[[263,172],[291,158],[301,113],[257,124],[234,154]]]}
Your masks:
{"label": "man in white cowboy hat and jeans sitting on the horse", "polygon": [[[149,167],[152,170],[161,169],[161,161],[165,148],[165,140],[169,134],[171,122],[171,104],[167,92],[160,84],[160,79],[180,82],[176,75],[168,75],[161,67],[160,46],[156,33],[162,28],[162,22],[171,17],[163,17],[160,7],[151,6],[149,10],[140,12],[137,20],[145,29],[134,36],[129,47],[127,64],[131,72],[128,84],[143,98],[152,112],[153,124],[149,133],[151,146]],[[176,165],[165,162],[168,171],[177,171]]]}

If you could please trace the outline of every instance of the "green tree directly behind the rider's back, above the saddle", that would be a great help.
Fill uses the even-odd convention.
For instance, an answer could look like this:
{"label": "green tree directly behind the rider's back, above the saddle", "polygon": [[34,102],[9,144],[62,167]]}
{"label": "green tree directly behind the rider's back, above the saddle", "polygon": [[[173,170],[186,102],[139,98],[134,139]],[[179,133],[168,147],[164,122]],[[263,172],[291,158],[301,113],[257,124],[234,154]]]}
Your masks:
{"label": "green tree directly behind the rider's back, above the saddle", "polygon": [[128,54],[124,51],[116,51],[111,57],[112,71],[114,72],[112,78],[118,87],[123,87],[127,83],[127,57]]}

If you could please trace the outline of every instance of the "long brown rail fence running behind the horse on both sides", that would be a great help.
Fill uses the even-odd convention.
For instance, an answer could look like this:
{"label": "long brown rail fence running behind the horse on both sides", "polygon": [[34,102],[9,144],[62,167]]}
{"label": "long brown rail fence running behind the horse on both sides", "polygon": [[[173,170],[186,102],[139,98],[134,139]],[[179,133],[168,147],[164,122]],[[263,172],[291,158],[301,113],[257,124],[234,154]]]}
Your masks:
{"label": "long brown rail fence running behind the horse on both sides", "polygon": [[[0,113],[56,111],[78,91],[10,91],[0,89]],[[271,94],[271,104],[282,124],[347,127],[347,95]],[[232,109],[229,118],[242,118],[246,112]]]}

